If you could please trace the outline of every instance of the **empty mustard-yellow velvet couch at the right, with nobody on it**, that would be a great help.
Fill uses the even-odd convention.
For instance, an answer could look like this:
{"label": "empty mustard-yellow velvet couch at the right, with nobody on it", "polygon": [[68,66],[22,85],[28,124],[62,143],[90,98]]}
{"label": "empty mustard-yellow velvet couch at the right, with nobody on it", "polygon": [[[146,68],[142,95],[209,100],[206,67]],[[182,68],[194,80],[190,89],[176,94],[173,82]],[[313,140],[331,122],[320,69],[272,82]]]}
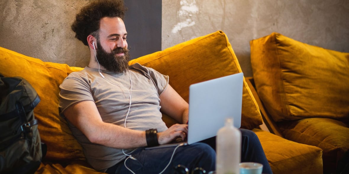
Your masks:
{"label": "empty mustard-yellow velvet couch at the right, with nobody on it", "polygon": [[324,173],[335,173],[349,150],[349,53],[275,32],[250,45],[249,80],[270,130],[321,148]]}

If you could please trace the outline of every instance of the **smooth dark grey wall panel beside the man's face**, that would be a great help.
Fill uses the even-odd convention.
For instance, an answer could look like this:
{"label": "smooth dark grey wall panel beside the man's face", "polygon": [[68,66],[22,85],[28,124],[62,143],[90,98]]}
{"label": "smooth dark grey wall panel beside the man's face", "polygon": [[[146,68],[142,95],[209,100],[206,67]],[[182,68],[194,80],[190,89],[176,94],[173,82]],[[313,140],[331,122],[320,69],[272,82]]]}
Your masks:
{"label": "smooth dark grey wall panel beside the man's face", "polygon": [[161,50],[162,0],[125,0],[131,59]]}

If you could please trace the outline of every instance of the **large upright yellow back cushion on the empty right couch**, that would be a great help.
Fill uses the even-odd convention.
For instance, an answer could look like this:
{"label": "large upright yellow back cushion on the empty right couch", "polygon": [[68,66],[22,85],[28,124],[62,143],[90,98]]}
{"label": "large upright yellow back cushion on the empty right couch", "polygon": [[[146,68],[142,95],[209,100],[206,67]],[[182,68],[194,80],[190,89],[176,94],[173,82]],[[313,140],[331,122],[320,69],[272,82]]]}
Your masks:
{"label": "large upright yellow back cushion on the empty right couch", "polygon": [[257,92],[275,121],[349,119],[349,53],[272,33],[250,42]]}

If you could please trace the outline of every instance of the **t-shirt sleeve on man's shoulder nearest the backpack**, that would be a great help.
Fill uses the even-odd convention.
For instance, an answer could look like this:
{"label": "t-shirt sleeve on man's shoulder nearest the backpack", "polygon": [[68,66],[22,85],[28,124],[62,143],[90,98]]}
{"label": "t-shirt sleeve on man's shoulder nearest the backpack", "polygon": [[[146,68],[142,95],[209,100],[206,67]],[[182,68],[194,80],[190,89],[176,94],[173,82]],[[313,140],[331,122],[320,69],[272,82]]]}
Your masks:
{"label": "t-shirt sleeve on man's shoulder nearest the backpack", "polygon": [[63,112],[69,106],[82,101],[94,101],[88,80],[81,77],[68,76],[59,87],[61,89],[59,93],[59,113],[62,117],[64,117]]}

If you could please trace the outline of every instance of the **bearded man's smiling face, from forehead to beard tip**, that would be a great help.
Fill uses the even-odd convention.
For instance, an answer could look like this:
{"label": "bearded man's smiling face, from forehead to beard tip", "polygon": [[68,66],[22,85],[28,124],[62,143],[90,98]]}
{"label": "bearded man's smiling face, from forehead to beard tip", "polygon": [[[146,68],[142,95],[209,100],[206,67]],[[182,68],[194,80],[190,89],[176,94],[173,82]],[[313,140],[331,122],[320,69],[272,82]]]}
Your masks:
{"label": "bearded man's smiling face, from forehead to beard tip", "polygon": [[125,24],[118,17],[104,17],[100,21],[97,40],[98,63],[107,71],[125,72],[128,67],[129,53],[126,42]]}

